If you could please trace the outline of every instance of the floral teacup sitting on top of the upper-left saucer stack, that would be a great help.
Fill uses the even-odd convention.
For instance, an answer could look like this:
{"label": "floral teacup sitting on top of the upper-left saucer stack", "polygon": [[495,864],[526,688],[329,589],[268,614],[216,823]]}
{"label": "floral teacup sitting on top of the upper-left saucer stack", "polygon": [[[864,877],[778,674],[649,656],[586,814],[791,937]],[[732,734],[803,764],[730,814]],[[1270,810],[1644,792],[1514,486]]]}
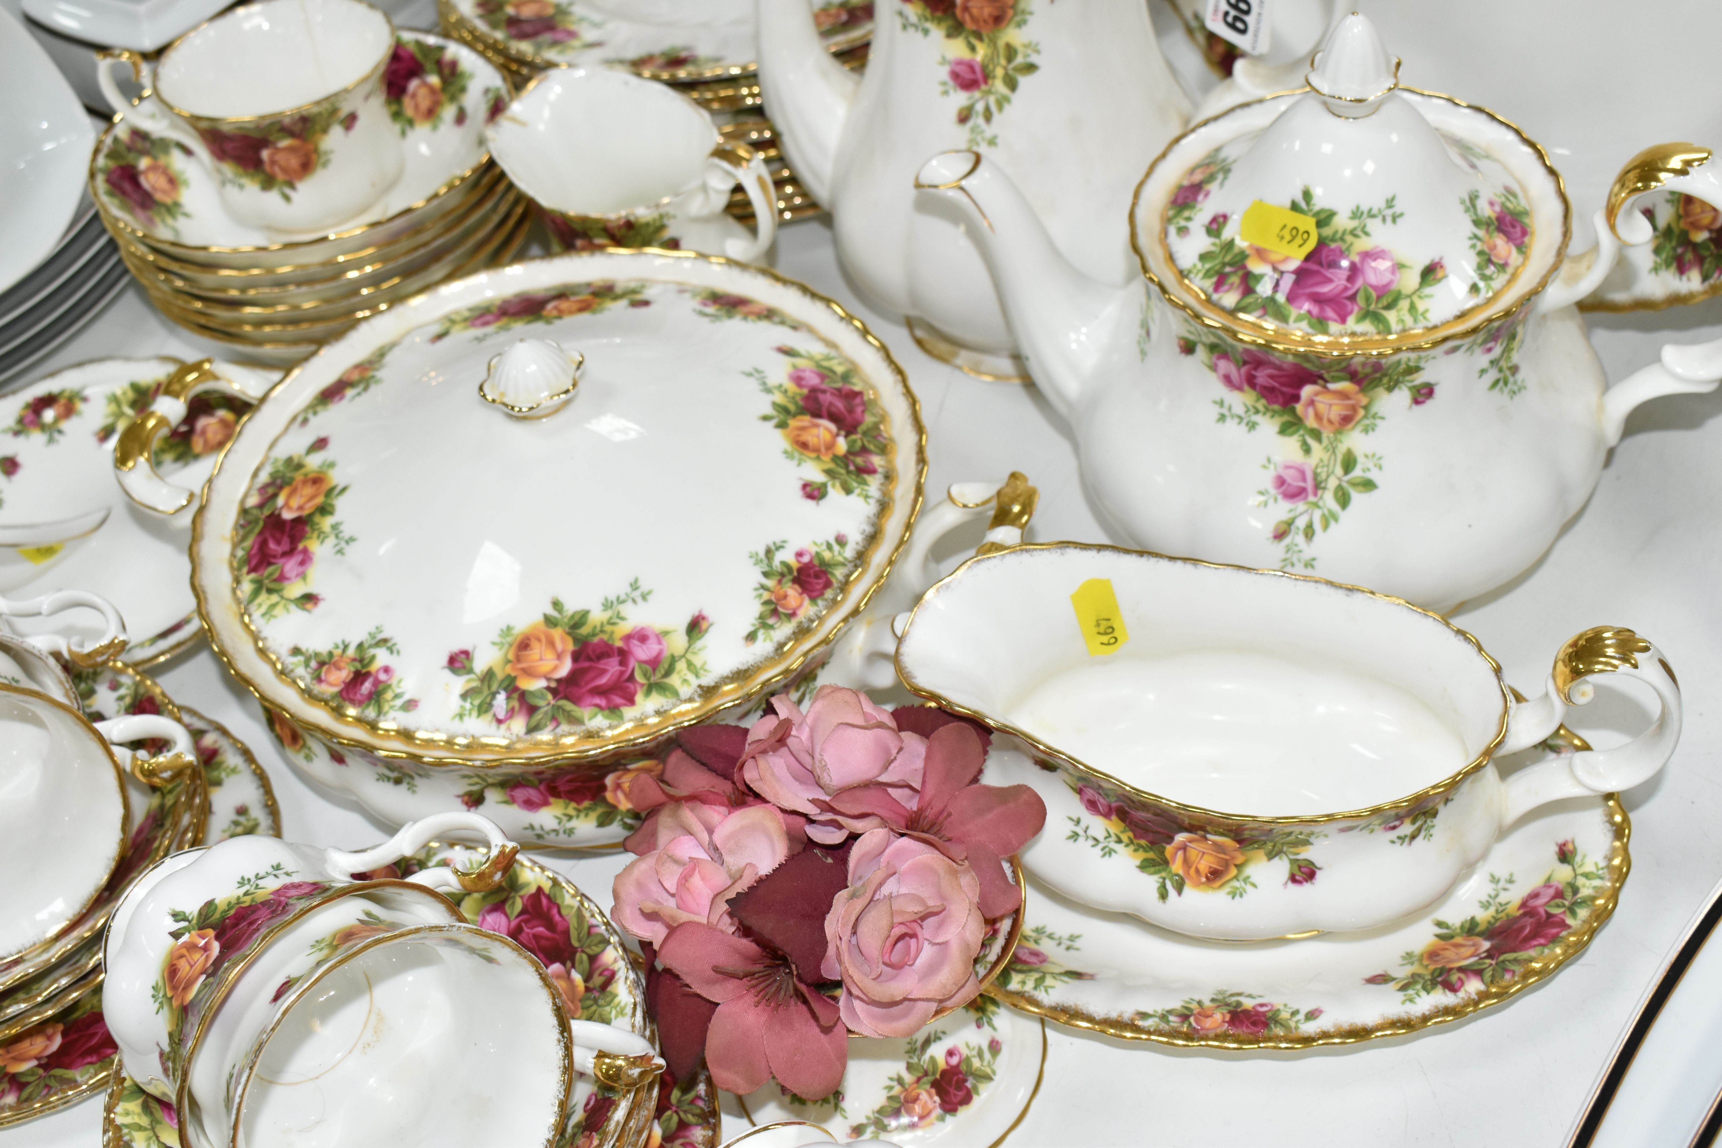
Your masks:
{"label": "floral teacup sitting on top of the upper-left saucer stack", "polygon": [[[96,77],[117,115],[189,148],[234,220],[301,234],[358,217],[400,179],[405,151],[384,100],[393,53],[394,24],[369,3],[263,0],[191,29],[153,69],[134,52],[103,52]],[[136,105],[114,83],[121,60],[146,86]],[[177,194],[152,184],[170,184],[167,169],[146,162],[131,177],[157,198]]]}

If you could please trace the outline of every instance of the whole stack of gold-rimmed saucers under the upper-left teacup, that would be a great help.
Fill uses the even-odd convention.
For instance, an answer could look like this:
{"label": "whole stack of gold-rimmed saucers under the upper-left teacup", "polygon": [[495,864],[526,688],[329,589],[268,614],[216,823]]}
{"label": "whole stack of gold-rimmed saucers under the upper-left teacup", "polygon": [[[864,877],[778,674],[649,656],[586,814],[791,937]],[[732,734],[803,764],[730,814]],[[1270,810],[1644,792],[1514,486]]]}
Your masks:
{"label": "whole stack of gold-rimmed saucers under the upper-left teacup", "polygon": [[[270,236],[232,220],[215,179],[177,143],[124,119],[90,162],[102,222],[150,299],[231,358],[286,363],[443,279],[508,262],[527,203],[491,162],[484,124],[508,79],[480,53],[427,33],[400,45],[443,77],[434,108],[389,100],[406,164],[350,227]],[[391,67],[391,76],[394,69]]]}

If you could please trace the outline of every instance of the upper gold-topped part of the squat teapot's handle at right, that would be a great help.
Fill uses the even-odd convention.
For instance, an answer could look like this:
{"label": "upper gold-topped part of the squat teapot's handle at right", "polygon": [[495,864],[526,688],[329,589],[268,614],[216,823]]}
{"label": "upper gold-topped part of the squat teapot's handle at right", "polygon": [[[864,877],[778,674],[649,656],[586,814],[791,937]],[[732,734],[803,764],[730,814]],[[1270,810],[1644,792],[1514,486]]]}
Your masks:
{"label": "upper gold-topped part of the squat teapot's handle at right", "polygon": [[1655,229],[1634,210],[1651,191],[1679,191],[1712,207],[1722,207],[1722,172],[1710,167],[1710,148],[1696,143],[1658,143],[1645,148],[1620,169],[1608,200],[1591,220],[1596,246],[1579,251],[1560,268],[1536,303],[1541,313],[1577,303],[1603,284],[1620,256],[1620,246],[1650,243]]}

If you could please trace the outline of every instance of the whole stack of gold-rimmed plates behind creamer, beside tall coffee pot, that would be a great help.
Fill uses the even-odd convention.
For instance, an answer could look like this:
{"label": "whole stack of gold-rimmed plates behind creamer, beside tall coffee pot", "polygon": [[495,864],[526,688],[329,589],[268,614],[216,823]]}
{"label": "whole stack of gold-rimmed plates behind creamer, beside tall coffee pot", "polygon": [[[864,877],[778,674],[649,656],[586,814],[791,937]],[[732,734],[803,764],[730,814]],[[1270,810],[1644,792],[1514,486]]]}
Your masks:
{"label": "whole stack of gold-rimmed plates behind creamer, beside tall coffee pot", "polygon": [[[866,64],[873,38],[871,0],[808,0],[827,48],[846,67]],[[623,21],[601,0],[437,0],[444,36],[484,53],[517,88],[546,67],[622,67],[673,84],[725,122],[728,143],[747,143],[766,158],[784,222],[821,208],[801,188],[765,117],[754,72],[753,5],[689,0],[656,5],[658,19]],[[713,10],[715,9],[715,10]],[[730,213],[751,220],[737,189]]]}

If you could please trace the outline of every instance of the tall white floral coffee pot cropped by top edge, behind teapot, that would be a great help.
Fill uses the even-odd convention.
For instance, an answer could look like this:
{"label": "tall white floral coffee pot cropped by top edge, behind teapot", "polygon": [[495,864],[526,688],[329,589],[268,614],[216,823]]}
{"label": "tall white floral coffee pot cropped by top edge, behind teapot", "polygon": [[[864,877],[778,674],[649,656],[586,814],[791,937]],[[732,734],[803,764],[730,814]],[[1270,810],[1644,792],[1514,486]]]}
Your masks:
{"label": "tall white floral coffee pot cropped by top edge, behind teapot", "polygon": [[[973,225],[914,196],[920,162],[968,146],[1021,179],[1064,258],[1128,274],[1131,181],[1190,103],[1142,3],[906,0],[873,31],[866,76],[825,50],[806,0],[759,0],[759,88],[797,179],[830,210],[837,258],[871,306],[909,317],[921,349],[1021,377]],[[1128,129],[1119,129],[1126,126]],[[1068,164],[1066,157],[1083,157]]]}

